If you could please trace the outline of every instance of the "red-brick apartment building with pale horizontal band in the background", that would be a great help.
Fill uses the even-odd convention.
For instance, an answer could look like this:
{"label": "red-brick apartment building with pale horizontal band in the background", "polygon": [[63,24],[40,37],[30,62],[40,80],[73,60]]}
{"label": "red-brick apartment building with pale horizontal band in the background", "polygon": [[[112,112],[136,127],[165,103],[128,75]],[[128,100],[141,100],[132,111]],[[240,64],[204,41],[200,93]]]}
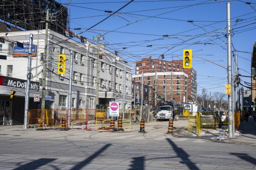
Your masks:
{"label": "red-brick apartment building with pale horizontal band in the background", "polygon": [[195,69],[183,69],[182,60],[165,61],[148,57],[135,63],[133,81],[141,84],[142,72],[144,72],[144,85],[154,87],[155,71],[157,71],[157,102],[165,97],[165,88],[167,100],[172,99],[172,94],[176,102],[196,100],[197,73]]}

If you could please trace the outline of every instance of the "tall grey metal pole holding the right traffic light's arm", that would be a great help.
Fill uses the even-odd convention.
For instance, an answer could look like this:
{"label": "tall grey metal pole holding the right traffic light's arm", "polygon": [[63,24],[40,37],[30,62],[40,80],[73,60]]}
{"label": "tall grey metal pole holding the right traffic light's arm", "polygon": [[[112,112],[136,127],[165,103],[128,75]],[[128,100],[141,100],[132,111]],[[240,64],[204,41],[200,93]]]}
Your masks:
{"label": "tall grey metal pole holding the right traffic light's arm", "polygon": [[227,3],[227,83],[231,85],[230,95],[228,95],[228,137],[234,138],[233,134],[233,111],[232,111],[232,64],[231,64],[231,16],[230,3]]}

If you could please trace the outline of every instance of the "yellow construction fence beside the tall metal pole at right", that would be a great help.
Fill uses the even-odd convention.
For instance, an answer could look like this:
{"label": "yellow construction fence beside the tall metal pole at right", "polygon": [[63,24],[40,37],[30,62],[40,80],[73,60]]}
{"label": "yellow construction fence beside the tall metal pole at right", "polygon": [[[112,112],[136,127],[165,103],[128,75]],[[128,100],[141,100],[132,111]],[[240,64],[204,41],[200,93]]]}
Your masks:
{"label": "yellow construction fence beside the tall metal pole at right", "polygon": [[[239,130],[240,111],[234,112],[234,128]],[[187,131],[197,136],[219,136],[228,133],[228,116],[221,119],[212,111],[197,112],[196,116],[188,116]]]}

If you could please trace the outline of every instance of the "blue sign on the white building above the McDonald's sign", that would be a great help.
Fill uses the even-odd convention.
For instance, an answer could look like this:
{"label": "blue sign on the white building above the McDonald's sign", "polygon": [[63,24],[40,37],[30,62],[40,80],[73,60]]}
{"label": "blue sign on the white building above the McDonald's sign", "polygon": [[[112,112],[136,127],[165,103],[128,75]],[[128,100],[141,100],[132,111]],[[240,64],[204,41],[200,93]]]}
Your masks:
{"label": "blue sign on the white building above the McDonald's sign", "polygon": [[[23,47],[24,48],[14,45],[12,56],[13,57],[28,57],[29,43],[23,43]],[[32,54],[31,54],[32,57],[36,56],[36,47],[37,47],[36,45],[34,45],[34,44],[32,45]]]}

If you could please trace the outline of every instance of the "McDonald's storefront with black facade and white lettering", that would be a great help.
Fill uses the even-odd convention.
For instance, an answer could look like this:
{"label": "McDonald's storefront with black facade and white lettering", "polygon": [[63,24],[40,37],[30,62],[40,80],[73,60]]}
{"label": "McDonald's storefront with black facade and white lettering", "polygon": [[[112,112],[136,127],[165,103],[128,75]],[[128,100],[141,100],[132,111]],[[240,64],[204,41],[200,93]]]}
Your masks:
{"label": "McDonald's storefront with black facade and white lettering", "polygon": [[[23,125],[26,83],[26,80],[0,76],[0,125]],[[39,83],[31,82],[29,109],[40,108],[40,103],[34,102],[34,95],[40,93]]]}

